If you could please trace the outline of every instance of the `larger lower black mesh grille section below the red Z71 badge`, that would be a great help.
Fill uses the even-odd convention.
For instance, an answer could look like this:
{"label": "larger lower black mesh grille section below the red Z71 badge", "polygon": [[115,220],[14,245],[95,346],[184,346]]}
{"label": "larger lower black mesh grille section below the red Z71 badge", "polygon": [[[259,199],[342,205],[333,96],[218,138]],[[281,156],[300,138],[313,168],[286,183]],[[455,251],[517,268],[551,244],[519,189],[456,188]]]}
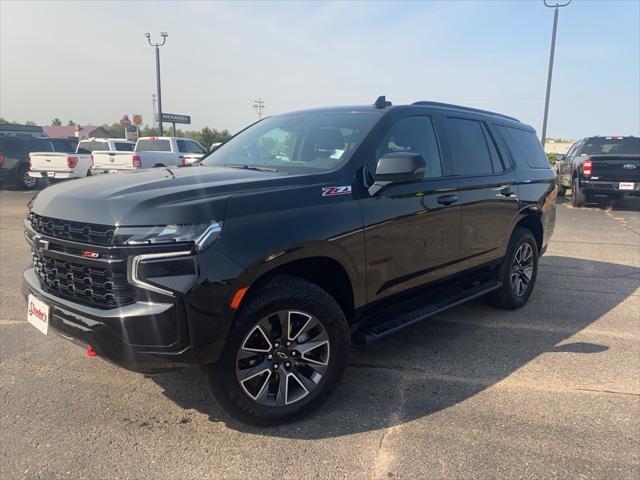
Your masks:
{"label": "larger lower black mesh grille section below the red Z71 badge", "polygon": [[134,301],[133,287],[125,272],[72,263],[32,250],[33,266],[42,288],[85,305],[113,308]]}

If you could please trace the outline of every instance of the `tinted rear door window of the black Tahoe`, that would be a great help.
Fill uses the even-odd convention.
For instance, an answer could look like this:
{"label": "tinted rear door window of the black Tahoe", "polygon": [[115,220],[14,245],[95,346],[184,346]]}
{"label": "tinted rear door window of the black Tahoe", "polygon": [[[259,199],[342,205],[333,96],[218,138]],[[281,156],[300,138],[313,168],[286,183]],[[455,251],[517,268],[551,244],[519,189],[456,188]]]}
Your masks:
{"label": "tinted rear door window of the black Tahoe", "polygon": [[447,138],[456,175],[492,174],[491,154],[482,124],[463,118],[447,119]]}

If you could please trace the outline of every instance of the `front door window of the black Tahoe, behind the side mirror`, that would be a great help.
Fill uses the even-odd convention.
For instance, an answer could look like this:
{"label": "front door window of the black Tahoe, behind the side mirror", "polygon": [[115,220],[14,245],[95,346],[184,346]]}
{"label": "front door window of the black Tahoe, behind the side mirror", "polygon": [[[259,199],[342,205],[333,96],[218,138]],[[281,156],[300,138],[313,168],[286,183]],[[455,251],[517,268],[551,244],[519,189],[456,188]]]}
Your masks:
{"label": "front door window of the black Tahoe, behind the side mirror", "polygon": [[440,150],[429,117],[406,117],[398,120],[376,149],[376,159],[387,153],[419,153],[427,164],[425,178],[442,176]]}

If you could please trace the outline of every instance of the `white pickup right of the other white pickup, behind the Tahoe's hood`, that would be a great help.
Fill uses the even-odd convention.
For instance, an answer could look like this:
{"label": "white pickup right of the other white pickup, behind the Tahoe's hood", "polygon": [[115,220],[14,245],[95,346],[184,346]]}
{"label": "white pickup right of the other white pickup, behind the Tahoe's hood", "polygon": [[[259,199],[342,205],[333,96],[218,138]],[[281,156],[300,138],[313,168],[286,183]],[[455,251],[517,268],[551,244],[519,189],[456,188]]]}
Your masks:
{"label": "white pickup right of the other white pickup, behind the Tahoe's hood", "polygon": [[142,137],[132,153],[96,152],[94,174],[118,173],[139,168],[184,167],[202,158],[207,151],[195,140],[181,137]]}

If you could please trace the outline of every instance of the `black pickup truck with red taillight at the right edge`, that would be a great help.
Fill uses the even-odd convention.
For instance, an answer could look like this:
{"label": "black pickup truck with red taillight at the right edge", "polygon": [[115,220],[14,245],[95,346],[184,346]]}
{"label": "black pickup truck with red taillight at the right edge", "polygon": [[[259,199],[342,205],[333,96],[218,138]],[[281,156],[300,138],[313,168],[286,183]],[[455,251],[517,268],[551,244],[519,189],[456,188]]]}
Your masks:
{"label": "black pickup truck with red taillight at the right edge", "polygon": [[571,189],[571,203],[640,195],[640,138],[588,137],[574,143],[557,165],[559,195]]}

